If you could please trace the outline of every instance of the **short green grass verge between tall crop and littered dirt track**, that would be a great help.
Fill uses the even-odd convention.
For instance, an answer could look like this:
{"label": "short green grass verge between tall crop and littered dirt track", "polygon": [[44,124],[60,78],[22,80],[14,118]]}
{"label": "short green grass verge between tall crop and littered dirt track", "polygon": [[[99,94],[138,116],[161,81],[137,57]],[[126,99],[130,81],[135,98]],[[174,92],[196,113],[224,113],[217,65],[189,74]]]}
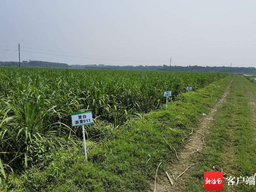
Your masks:
{"label": "short green grass verge between tall crop and littered dirt track", "polygon": [[[114,139],[103,140],[88,152],[88,163],[83,162],[81,152],[74,157],[80,159],[76,163],[59,158],[51,162],[55,169],[34,168],[23,187],[26,191],[58,192],[149,190],[158,164],[163,162],[158,173],[164,174],[167,164],[176,158],[163,137],[178,150],[184,134],[191,132],[208,107],[214,106],[231,79],[228,76],[201,90],[180,94],[175,102],[168,104],[167,111],[150,112],[123,126]],[[53,175],[56,169],[59,175]]]}

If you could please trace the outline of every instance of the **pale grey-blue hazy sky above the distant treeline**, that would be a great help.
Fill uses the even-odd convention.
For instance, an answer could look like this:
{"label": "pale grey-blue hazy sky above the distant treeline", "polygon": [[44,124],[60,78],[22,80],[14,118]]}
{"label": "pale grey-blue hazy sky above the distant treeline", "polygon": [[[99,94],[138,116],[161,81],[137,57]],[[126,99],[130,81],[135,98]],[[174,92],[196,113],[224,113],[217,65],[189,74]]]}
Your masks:
{"label": "pale grey-blue hazy sky above the distant treeline", "polygon": [[1,0],[0,60],[18,61],[5,50],[20,43],[21,61],[256,67],[255,10],[255,0]]}

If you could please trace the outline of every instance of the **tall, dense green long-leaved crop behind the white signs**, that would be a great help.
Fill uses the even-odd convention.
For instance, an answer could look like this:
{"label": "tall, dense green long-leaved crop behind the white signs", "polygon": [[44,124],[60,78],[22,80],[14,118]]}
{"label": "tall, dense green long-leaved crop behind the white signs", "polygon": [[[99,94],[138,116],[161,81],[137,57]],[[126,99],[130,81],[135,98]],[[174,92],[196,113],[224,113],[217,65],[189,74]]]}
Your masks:
{"label": "tall, dense green long-leaved crop behind the white signs", "polygon": [[[92,110],[96,123],[90,137],[97,138],[105,124],[116,127],[139,113],[159,109],[164,90],[172,90],[175,98],[186,86],[197,90],[226,75],[1,68],[0,146],[7,153],[0,157],[19,171],[28,169],[42,160],[34,149],[36,142],[81,136],[71,128],[73,112]],[[45,147],[42,151],[49,146]]]}

